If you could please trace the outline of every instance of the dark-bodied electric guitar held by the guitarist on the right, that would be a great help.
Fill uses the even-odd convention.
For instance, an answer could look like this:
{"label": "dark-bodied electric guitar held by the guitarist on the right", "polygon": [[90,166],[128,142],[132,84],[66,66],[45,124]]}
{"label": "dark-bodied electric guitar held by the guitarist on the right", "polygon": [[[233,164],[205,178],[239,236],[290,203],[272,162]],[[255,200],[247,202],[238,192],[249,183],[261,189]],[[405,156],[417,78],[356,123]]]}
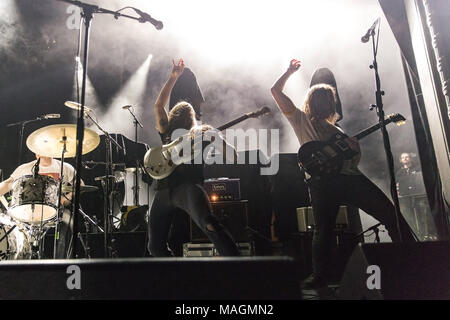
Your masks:
{"label": "dark-bodied electric guitar held by the guitarist on the right", "polygon": [[[402,125],[406,119],[398,113],[388,115],[385,124],[396,123]],[[354,136],[360,140],[372,132],[381,128],[377,123]],[[328,141],[310,141],[300,147],[297,153],[298,164],[311,176],[331,176],[338,174],[344,160],[351,159],[357,154],[345,141],[348,136],[344,133],[336,133]]]}

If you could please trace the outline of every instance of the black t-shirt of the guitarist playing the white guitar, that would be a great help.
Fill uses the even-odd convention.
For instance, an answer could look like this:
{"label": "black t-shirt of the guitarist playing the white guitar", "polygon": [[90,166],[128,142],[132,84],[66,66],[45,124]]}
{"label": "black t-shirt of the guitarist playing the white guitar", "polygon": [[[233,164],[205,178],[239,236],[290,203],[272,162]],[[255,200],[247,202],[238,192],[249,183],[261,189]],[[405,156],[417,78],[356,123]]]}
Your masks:
{"label": "black t-shirt of the guitarist playing the white guitar", "polygon": [[[170,133],[159,133],[159,135],[163,144],[168,144],[172,141]],[[203,142],[202,154],[199,157],[203,157],[203,152],[208,145],[209,142]],[[158,180],[157,189],[174,188],[185,182],[203,184],[203,159],[201,164],[195,164],[199,160],[196,158],[191,163],[183,163],[177,166],[170,176]]]}

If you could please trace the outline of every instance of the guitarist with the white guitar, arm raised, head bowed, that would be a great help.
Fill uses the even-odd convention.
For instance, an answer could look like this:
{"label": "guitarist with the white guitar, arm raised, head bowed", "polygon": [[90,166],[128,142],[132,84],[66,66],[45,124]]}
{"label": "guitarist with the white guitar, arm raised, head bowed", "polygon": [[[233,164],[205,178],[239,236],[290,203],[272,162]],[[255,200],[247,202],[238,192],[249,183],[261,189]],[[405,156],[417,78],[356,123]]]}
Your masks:
{"label": "guitarist with the white guitar, arm raised, head bowed", "polygon": [[[169,113],[166,111],[165,107],[169,102],[172,89],[183,71],[182,59],[177,64],[173,62],[170,77],[155,102],[156,128],[164,144],[174,139],[173,134],[177,129],[184,129],[192,134],[202,134],[212,129],[210,126],[200,126],[197,123],[194,108],[187,101],[177,102]],[[223,143],[225,144],[225,140]],[[228,149],[230,147],[228,145]],[[227,148],[223,148],[223,150],[225,153]],[[200,157],[202,156],[203,152]],[[191,216],[192,220],[214,243],[220,255],[239,255],[237,246],[227,230],[212,215],[211,204],[202,183],[203,164],[199,164],[195,160],[193,163],[179,165],[170,176],[157,181],[148,223],[148,249],[152,256],[172,255],[167,245],[167,239],[173,216],[180,209]]]}

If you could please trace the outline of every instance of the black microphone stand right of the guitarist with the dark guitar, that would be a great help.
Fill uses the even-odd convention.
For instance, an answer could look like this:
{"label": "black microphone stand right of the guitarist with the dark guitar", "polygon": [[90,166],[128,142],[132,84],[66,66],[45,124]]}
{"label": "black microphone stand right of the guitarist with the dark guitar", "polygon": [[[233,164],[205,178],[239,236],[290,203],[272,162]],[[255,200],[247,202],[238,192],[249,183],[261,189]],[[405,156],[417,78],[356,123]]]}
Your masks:
{"label": "black microphone stand right of the guitarist with the dark guitar", "polygon": [[378,115],[378,122],[380,124],[381,132],[383,134],[384,150],[386,153],[386,159],[387,159],[388,168],[389,168],[389,176],[390,176],[390,181],[391,181],[390,190],[391,190],[391,196],[392,196],[392,200],[394,202],[394,208],[395,208],[395,222],[396,222],[399,240],[400,240],[400,242],[402,242],[403,235],[402,235],[402,230],[400,228],[401,212],[400,212],[400,204],[399,204],[399,200],[398,200],[397,186],[396,186],[396,181],[395,181],[394,157],[392,155],[391,143],[389,140],[389,133],[386,130],[386,124],[384,122],[385,116],[384,116],[383,98],[382,98],[384,96],[384,91],[381,90],[381,80],[380,80],[380,75],[378,73],[377,51],[378,51],[378,40],[379,40],[379,36],[380,36],[379,30],[380,30],[380,27],[378,25],[378,36],[377,36],[376,44],[375,44],[375,30],[373,30],[370,35],[372,37],[373,63],[369,66],[369,68],[373,69],[373,71],[375,73],[375,83],[376,83],[376,92],[375,92],[376,105],[371,105],[370,110],[373,110],[374,108],[376,109],[377,115]]}

